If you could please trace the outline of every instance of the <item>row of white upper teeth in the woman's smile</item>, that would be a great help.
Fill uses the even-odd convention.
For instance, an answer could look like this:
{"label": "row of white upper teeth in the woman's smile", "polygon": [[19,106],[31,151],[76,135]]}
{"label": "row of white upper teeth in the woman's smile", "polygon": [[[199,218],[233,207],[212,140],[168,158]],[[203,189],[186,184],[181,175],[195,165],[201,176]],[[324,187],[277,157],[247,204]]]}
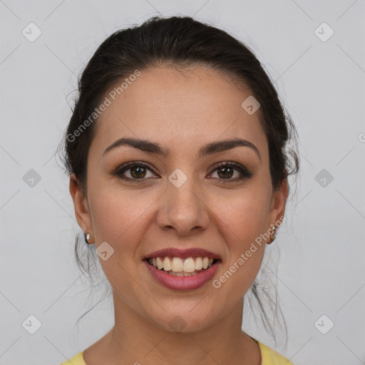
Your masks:
{"label": "row of white upper teeth in the woman's smile", "polygon": [[158,269],[165,271],[172,270],[173,272],[195,272],[195,270],[207,269],[212,266],[213,259],[209,257],[188,257],[187,259],[180,259],[180,257],[153,257],[148,259],[150,264]]}

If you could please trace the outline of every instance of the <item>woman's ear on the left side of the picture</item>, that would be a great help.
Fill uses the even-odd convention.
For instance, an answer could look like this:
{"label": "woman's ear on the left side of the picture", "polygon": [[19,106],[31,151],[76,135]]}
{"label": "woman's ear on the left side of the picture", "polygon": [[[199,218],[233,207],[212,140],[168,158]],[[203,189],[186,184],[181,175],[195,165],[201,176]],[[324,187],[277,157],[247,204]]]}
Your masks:
{"label": "woman's ear on the left side of the picture", "polygon": [[88,243],[93,242],[93,224],[88,207],[88,199],[85,193],[81,190],[80,184],[76,175],[73,173],[70,176],[70,193],[75,207],[75,215],[78,225],[83,230],[84,234],[89,233],[90,239]]}

